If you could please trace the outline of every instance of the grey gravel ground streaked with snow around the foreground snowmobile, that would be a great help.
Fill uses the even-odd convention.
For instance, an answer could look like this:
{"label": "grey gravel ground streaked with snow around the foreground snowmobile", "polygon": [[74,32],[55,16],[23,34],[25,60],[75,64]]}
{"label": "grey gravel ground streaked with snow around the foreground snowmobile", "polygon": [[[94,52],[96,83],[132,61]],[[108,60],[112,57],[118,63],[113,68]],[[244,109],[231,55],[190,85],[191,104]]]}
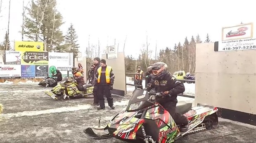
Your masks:
{"label": "grey gravel ground streaked with snow around the foreground snowmobile", "polygon": [[[37,84],[0,87],[0,103],[4,106],[0,117],[0,143],[123,143],[114,138],[94,140],[86,136],[83,129],[96,125],[97,117],[102,117],[102,124],[106,124],[105,120],[110,120],[125,107],[130,94],[113,96],[115,110],[97,111],[89,105],[91,98],[56,101],[44,94],[50,88]],[[254,130],[225,136],[251,129]],[[176,143],[255,143],[255,129],[255,126],[220,119],[214,129],[185,136]],[[95,132],[103,134],[104,131]]]}

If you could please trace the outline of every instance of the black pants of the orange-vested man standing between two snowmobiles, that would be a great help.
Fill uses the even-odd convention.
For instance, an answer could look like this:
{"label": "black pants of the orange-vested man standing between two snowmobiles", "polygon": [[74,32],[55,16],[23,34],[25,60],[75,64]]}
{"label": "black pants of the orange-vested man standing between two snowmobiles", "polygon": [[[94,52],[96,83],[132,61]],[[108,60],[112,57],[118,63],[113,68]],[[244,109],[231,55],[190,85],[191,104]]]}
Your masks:
{"label": "black pants of the orange-vested man standing between two snowmobiles", "polygon": [[109,85],[98,85],[97,92],[98,92],[97,94],[98,101],[101,108],[105,108],[104,95],[107,97],[107,102],[109,104],[109,107],[113,106],[113,98],[111,97]]}

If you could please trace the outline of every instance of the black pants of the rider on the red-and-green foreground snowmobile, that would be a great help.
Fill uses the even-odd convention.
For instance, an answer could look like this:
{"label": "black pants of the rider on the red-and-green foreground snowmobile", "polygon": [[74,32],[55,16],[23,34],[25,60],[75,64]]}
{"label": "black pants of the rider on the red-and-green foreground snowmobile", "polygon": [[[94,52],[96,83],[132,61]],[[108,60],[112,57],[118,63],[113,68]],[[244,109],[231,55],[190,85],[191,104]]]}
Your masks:
{"label": "black pants of the rider on the red-and-green foreground snowmobile", "polygon": [[186,116],[175,112],[177,102],[178,101],[168,101],[160,104],[171,114],[176,125],[187,125],[188,121]]}

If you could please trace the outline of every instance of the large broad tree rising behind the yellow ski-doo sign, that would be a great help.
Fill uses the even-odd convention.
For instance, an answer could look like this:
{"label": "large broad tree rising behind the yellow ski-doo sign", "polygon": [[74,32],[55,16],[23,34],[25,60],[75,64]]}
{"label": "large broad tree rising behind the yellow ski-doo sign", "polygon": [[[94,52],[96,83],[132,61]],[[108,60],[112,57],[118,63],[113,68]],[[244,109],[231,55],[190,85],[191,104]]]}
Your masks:
{"label": "large broad tree rising behind the yellow ski-doo sign", "polygon": [[31,7],[24,21],[24,35],[35,42],[46,42],[47,51],[52,51],[63,41],[59,30],[62,15],[56,9],[56,0],[31,0]]}

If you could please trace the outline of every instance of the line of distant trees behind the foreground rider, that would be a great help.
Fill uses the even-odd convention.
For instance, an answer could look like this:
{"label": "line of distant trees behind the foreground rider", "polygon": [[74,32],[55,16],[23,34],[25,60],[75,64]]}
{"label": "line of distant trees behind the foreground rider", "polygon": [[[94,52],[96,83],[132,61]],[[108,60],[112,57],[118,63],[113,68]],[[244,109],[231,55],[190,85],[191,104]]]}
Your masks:
{"label": "line of distant trees behind the foreground rider", "polygon": [[[211,42],[207,33],[204,43]],[[132,55],[126,56],[126,72],[134,73],[137,66],[140,66],[143,71],[147,71],[147,67],[154,62],[165,62],[168,65],[168,71],[172,74],[175,71],[185,71],[194,73],[196,65],[196,44],[202,43],[199,35],[189,40],[185,37],[183,44],[180,42],[173,47],[166,47],[159,51],[159,54],[152,58],[152,50],[149,50],[149,43],[142,45],[142,50],[139,58],[135,59]],[[157,47],[156,47],[157,48]],[[155,51],[156,52],[156,51]]]}

